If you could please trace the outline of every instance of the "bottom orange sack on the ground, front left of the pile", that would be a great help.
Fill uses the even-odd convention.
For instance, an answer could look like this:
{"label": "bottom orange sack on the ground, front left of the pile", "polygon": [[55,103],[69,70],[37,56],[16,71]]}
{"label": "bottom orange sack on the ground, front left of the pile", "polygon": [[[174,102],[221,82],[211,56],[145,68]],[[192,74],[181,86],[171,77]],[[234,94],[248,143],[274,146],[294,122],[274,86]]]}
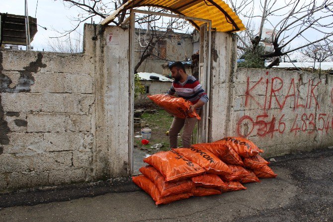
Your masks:
{"label": "bottom orange sack on the ground, front left of the pile", "polygon": [[138,185],[142,190],[144,190],[147,194],[149,194],[153,198],[156,205],[168,204],[177,200],[182,200],[193,196],[192,193],[182,193],[182,194],[170,195],[167,197],[161,197],[159,189],[157,189],[155,184],[144,175],[133,176],[132,180],[136,185]]}

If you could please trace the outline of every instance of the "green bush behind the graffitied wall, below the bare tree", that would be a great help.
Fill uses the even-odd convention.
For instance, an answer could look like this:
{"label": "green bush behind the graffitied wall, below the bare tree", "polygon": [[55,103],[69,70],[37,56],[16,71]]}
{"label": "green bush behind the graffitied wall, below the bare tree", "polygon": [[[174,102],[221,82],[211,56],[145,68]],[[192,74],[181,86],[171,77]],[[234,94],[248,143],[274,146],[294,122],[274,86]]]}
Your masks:
{"label": "green bush behind the graffitied wall, below the bare tree", "polygon": [[238,67],[244,68],[257,68],[263,69],[265,68],[264,59],[260,57],[260,55],[264,54],[263,46],[258,45],[255,50],[247,51],[243,56],[242,59],[245,59],[244,62],[240,62],[237,64]]}

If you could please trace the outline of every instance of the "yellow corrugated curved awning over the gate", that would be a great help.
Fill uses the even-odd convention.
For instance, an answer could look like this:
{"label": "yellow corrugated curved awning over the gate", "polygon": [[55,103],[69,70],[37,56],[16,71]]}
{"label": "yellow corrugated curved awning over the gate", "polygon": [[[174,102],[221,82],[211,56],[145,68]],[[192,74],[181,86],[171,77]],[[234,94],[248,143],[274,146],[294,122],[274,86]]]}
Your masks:
{"label": "yellow corrugated curved awning over the gate", "polygon": [[[141,6],[161,7],[179,15],[211,20],[212,28],[216,28],[217,31],[221,32],[234,32],[246,29],[242,20],[222,0],[129,0],[102,20],[100,24],[106,25],[113,21],[120,12]],[[204,23],[194,19],[187,20],[196,28],[199,28]]]}

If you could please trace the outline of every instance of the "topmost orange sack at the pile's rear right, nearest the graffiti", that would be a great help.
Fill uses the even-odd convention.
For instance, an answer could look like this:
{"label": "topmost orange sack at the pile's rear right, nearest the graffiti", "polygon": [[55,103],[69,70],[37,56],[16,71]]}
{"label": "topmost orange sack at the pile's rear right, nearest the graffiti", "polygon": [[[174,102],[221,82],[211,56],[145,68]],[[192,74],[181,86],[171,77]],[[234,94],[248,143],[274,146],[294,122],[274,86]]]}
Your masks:
{"label": "topmost orange sack at the pile's rear right, nearest the graffiti", "polygon": [[251,157],[263,152],[254,143],[243,137],[225,137],[213,143],[230,146],[242,157]]}

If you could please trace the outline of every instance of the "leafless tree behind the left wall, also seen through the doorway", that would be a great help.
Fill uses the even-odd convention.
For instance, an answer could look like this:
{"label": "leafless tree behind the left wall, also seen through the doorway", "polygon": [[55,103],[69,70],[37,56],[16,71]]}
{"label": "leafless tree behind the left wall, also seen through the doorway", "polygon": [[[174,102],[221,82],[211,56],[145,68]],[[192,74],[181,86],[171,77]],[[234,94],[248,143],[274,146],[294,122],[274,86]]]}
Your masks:
{"label": "leafless tree behind the left wall, also seen through the doorway", "polygon": [[[72,21],[75,26],[71,30],[62,32],[63,36],[75,31],[81,23],[89,21],[90,18],[104,19],[111,14],[119,6],[126,3],[128,0],[62,0],[66,7],[78,7],[81,13],[77,17],[73,17]],[[149,11],[167,12],[166,9],[146,7]],[[170,12],[168,12],[170,13]],[[122,11],[115,20],[112,21],[115,25],[128,22],[128,11]],[[135,72],[147,58],[159,58],[169,60],[169,58],[161,52],[158,43],[161,41],[173,41],[173,39],[181,38],[177,31],[191,31],[191,25],[184,19],[167,18],[163,19],[159,15],[138,14],[136,16],[136,41],[138,46],[137,52],[140,52],[140,59],[135,66]],[[172,30],[172,31],[171,31]]]}

